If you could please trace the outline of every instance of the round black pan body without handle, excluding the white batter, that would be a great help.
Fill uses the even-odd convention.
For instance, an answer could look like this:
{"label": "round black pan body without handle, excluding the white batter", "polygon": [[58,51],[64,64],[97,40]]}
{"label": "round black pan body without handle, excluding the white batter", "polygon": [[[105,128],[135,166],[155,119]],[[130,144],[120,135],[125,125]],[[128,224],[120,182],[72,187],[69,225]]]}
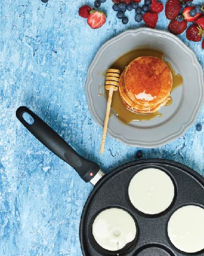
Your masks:
{"label": "round black pan body without handle, excluding the white batter", "polygon": [[[175,197],[170,207],[161,214],[147,215],[135,209],[128,198],[132,177],[144,168],[158,168],[169,175],[175,185]],[[183,164],[163,159],[145,159],[125,164],[104,176],[95,186],[83,210],[80,240],[83,255],[189,255],[172,245],[167,234],[168,220],[175,210],[185,205],[204,207],[204,179]],[[92,236],[92,223],[99,212],[110,207],[126,210],[135,219],[137,236],[125,250],[110,252],[97,245]],[[203,255],[200,251],[196,255]],[[192,256],[192,255],[191,255]]]}

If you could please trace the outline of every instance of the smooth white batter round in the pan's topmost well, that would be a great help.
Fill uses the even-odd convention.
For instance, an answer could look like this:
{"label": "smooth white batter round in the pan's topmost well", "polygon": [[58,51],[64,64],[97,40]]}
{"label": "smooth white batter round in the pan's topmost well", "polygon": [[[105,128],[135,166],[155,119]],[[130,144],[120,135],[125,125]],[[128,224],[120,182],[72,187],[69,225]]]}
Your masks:
{"label": "smooth white batter round in the pan's topmost well", "polygon": [[171,205],[174,191],[174,184],[165,172],[147,168],[132,178],[128,195],[136,209],[153,215],[165,211]]}

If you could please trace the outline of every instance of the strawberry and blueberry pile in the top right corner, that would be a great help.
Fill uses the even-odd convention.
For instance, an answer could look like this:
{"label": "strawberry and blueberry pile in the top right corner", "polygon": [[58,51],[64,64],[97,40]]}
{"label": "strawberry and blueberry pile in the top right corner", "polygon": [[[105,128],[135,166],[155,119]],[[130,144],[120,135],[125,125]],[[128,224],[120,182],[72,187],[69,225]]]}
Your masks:
{"label": "strawberry and blueberry pile in the top right corner", "polygon": [[[193,1],[193,0],[192,0]],[[195,6],[192,1],[168,0],[165,7],[166,18],[170,19],[168,30],[173,34],[181,34],[187,29],[187,23],[193,22],[187,29],[187,39],[199,42],[204,36],[204,5]],[[204,41],[202,41],[204,49]]]}

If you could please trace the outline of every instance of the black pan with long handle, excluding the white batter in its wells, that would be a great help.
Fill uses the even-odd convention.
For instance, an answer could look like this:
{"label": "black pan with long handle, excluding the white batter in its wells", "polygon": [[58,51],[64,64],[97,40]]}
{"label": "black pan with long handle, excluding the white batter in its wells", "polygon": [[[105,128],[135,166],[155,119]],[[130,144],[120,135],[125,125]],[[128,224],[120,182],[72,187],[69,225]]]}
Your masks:
{"label": "black pan with long handle, excluding the white batter in its wells", "polygon": [[[28,124],[23,114],[32,116],[34,123]],[[108,175],[92,163],[78,155],[52,128],[27,107],[19,107],[16,116],[21,123],[54,154],[69,163],[86,182],[96,184],[83,209],[79,236],[83,255],[138,255],[138,256],[181,256],[183,253],[171,244],[167,235],[167,224],[172,213],[188,204],[204,207],[204,179],[183,164],[164,159],[144,159],[117,168]],[[128,198],[128,184],[141,169],[155,167],[165,171],[175,185],[175,198],[171,206],[158,215],[149,216],[136,210]],[[100,180],[100,181],[99,181]],[[100,211],[109,207],[119,207],[128,211],[135,219],[138,235],[131,244],[120,251],[110,252],[97,245],[92,236],[92,223]],[[204,250],[192,255],[204,255]]]}

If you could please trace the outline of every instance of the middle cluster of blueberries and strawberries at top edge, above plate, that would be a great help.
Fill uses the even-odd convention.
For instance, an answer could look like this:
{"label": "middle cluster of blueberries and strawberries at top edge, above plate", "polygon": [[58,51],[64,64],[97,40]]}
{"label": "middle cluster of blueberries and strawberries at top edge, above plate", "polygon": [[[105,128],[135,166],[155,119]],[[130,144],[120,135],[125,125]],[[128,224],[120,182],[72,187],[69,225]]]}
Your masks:
{"label": "middle cluster of blueberries and strawberries at top edge, above plate", "polygon": [[135,21],[144,22],[150,28],[155,28],[158,21],[158,13],[163,11],[163,5],[157,0],[144,0],[144,5],[140,5],[141,0],[112,0],[114,2],[113,10],[117,12],[116,16],[122,20],[122,24],[128,23],[125,16],[126,11],[135,12]]}

